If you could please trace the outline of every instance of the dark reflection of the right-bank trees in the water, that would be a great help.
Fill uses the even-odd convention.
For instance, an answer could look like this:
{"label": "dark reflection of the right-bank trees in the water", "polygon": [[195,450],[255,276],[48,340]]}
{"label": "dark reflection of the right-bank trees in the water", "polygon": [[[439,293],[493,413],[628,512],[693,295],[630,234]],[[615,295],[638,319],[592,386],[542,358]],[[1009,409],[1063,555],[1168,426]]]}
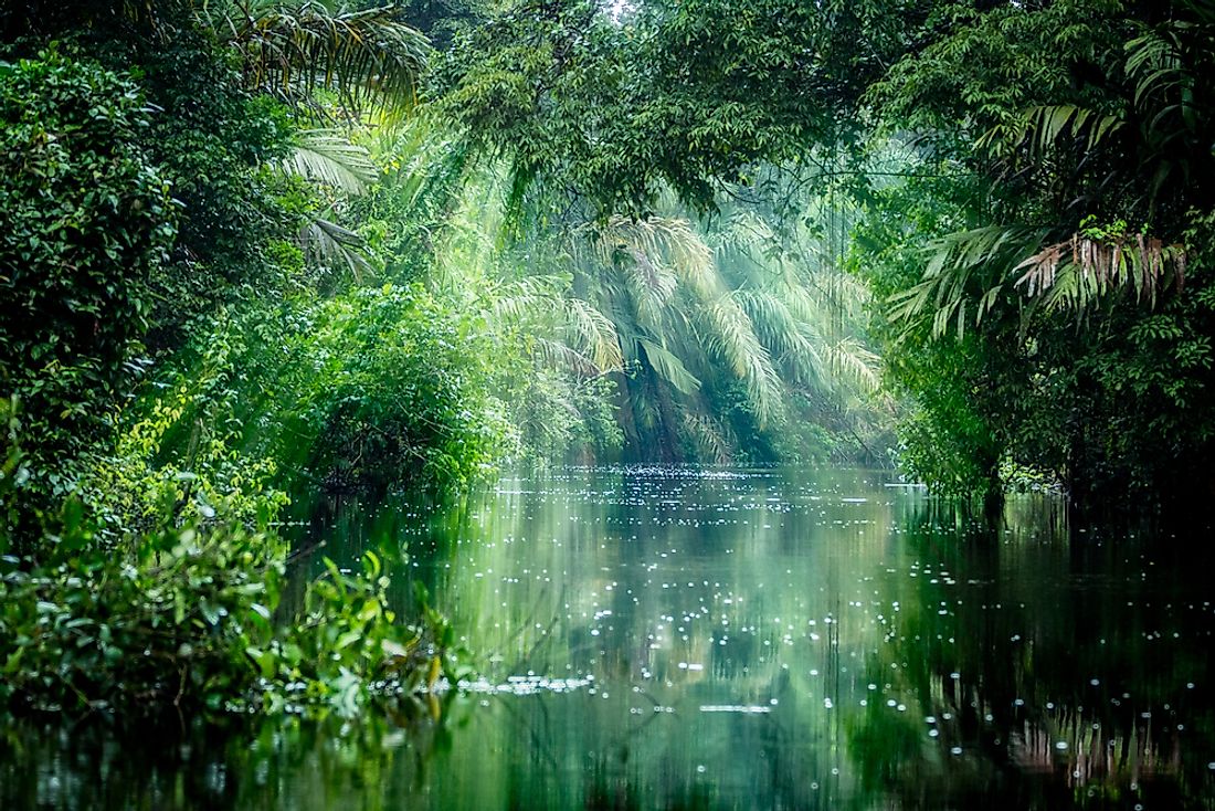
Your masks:
{"label": "dark reflection of the right-bank trees in the water", "polygon": [[905,720],[858,726],[866,788],[961,806],[1000,784],[1008,804],[1211,807],[1213,610],[1196,576],[1209,556],[1132,539],[1042,542],[1044,525],[1022,517],[966,544],[953,526],[908,525],[914,609],[869,663],[905,697]]}

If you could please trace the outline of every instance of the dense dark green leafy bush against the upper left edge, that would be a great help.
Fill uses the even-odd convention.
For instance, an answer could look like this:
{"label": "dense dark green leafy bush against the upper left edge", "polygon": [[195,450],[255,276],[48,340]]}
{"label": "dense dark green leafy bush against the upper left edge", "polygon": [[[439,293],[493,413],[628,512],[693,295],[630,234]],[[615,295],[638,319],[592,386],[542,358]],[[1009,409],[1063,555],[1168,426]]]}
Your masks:
{"label": "dense dark green leafy bush against the upper left edge", "polygon": [[0,63],[0,389],[21,395],[39,467],[96,438],[147,328],[175,219],[139,146],[149,117],[91,62]]}

